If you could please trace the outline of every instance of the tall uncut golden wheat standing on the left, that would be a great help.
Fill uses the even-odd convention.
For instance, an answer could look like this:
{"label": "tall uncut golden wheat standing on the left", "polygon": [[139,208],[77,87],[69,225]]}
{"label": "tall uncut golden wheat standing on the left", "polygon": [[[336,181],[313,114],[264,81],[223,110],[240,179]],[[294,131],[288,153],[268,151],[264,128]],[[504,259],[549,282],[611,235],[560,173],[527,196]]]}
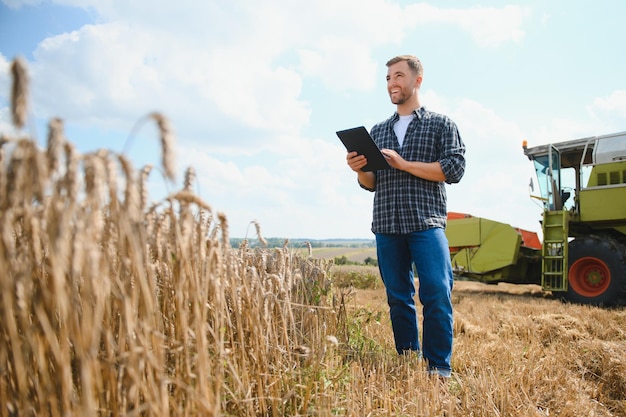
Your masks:
{"label": "tall uncut golden wheat standing on the left", "polygon": [[[171,130],[151,117],[173,177]],[[290,307],[304,291],[285,286],[296,281],[285,279],[286,250],[232,250],[226,216],[215,223],[191,175],[162,209],[144,211],[149,167],[138,176],[124,155],[78,154],[60,119],[45,151],[25,138],[2,145],[3,414],[284,408],[284,356],[311,333]],[[271,362],[282,371],[267,374]]]}

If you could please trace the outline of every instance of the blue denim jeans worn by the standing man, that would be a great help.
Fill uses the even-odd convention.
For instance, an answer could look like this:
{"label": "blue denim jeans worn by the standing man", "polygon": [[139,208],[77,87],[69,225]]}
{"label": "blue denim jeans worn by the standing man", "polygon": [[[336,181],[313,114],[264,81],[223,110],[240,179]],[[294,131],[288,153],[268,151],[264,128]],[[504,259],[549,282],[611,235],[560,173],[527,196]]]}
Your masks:
{"label": "blue denim jeans worn by the standing man", "polygon": [[452,357],[452,265],[441,228],[406,235],[376,234],[378,267],[385,284],[396,350],[419,351],[413,264],[424,316],[422,355],[431,372],[450,376]]}

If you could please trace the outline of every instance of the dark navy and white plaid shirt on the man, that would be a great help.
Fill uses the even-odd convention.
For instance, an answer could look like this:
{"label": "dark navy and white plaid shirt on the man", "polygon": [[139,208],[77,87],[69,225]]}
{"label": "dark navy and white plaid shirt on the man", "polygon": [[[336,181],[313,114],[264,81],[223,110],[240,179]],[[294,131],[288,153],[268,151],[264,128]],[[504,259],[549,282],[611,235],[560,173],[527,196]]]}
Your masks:
{"label": "dark navy and white plaid shirt on the man", "polygon": [[[447,116],[424,107],[414,114],[402,147],[393,131],[399,119],[397,113],[375,125],[372,138],[380,149],[393,149],[407,161],[439,161],[445,182],[459,182],[465,172],[465,145],[456,124]],[[375,174],[376,188],[369,190],[376,191],[372,232],[407,234],[446,227],[444,182],[428,181],[395,168],[375,171]]]}

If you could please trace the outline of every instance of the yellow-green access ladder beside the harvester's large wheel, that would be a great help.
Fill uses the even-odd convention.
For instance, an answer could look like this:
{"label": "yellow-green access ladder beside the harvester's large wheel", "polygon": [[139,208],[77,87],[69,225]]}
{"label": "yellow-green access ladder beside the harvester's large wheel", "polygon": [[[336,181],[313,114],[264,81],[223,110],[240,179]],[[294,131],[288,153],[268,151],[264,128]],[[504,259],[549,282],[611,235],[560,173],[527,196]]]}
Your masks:
{"label": "yellow-green access ladder beside the harvester's large wheel", "polygon": [[541,287],[546,291],[567,291],[568,235],[568,211],[543,212]]}

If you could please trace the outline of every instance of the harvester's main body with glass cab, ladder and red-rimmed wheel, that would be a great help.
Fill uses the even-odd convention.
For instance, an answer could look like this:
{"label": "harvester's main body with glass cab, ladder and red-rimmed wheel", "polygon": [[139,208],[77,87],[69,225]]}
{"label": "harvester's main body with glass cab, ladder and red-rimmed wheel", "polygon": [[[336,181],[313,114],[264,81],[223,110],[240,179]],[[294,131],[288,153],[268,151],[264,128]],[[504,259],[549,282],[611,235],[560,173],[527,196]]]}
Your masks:
{"label": "harvester's main body with glass cab, ladder and red-rimmed wheel", "polygon": [[529,148],[543,203],[541,286],[573,302],[626,300],[626,132]]}

